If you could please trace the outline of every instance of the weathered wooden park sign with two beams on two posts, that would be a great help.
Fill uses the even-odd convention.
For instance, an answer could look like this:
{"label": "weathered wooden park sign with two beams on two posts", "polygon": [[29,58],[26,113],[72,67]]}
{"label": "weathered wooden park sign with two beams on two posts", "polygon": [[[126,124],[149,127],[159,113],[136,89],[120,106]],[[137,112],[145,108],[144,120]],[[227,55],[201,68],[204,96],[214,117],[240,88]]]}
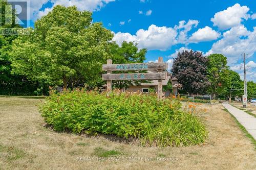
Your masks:
{"label": "weathered wooden park sign with two beams on two posts", "polygon": [[[112,64],[112,60],[108,60],[107,64],[102,66],[107,74],[102,75],[102,79],[106,80],[106,90],[112,90],[112,80],[158,80],[158,99],[162,99],[162,80],[167,79],[167,63],[163,63],[163,58],[158,58],[158,63],[138,63],[138,64]],[[112,71],[141,71],[141,70],[157,70],[156,73],[134,73],[134,74],[112,74]]]}

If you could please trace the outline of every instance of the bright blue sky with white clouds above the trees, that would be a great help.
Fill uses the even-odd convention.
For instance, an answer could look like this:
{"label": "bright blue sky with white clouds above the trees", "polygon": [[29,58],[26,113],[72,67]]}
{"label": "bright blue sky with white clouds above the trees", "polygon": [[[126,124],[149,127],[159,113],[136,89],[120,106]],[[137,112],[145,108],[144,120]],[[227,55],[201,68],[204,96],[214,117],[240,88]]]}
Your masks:
{"label": "bright blue sky with white clouds above the trees", "polygon": [[256,1],[251,0],[33,0],[32,20],[55,5],[76,5],[93,12],[93,21],[113,31],[114,40],[147,48],[146,61],[163,57],[172,67],[182,50],[221,53],[241,74],[241,54],[248,54],[248,80],[256,81]]}

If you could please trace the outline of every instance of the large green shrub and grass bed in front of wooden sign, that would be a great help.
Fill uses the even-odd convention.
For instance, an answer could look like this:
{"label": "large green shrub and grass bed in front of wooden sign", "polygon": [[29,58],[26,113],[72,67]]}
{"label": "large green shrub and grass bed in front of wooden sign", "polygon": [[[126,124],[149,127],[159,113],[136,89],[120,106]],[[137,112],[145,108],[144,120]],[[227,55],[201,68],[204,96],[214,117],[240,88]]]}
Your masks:
{"label": "large green shrub and grass bed in front of wooden sign", "polygon": [[179,100],[158,101],[155,94],[64,91],[52,93],[40,111],[56,131],[137,137],[143,145],[187,146],[206,137],[197,115],[182,111]]}

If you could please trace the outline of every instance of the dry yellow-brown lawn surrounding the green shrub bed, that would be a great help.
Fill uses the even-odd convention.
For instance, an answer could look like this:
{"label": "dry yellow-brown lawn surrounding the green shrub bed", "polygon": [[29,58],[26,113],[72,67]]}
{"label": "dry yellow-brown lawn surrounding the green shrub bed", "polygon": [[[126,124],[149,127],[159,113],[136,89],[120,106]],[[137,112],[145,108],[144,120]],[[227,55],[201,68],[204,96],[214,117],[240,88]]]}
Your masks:
{"label": "dry yellow-brown lawn surrounding the green shrub bed", "polygon": [[[2,169],[254,169],[256,151],[221,105],[200,105],[207,142],[183,148],[140,147],[43,127],[37,99],[0,98]],[[3,146],[3,147],[1,147]],[[8,150],[13,147],[17,150]],[[99,149],[100,148],[100,149]],[[97,152],[106,154],[96,160]],[[21,155],[17,156],[16,155]],[[15,159],[8,160],[9,157]],[[108,158],[123,158],[108,159]],[[17,158],[17,159],[16,159]],[[87,160],[92,158],[92,160]],[[134,158],[134,159],[133,159]],[[150,159],[151,158],[151,159]],[[0,168],[0,169],[1,169]]]}

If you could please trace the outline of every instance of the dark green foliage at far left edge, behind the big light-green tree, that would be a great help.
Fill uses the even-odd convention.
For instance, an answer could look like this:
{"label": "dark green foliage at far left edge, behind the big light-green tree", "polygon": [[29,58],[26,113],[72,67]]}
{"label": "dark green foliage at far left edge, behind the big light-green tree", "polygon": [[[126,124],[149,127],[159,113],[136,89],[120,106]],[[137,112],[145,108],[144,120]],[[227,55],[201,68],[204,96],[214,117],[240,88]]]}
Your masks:
{"label": "dark green foliage at far left edge, behind the big light-green tree", "polygon": [[[15,23],[15,11],[13,10],[12,22],[6,25],[6,6],[7,1],[0,1],[1,29],[21,28]],[[29,95],[47,94],[47,89],[38,82],[29,81],[25,76],[11,74],[11,59],[9,52],[11,45],[17,35],[0,35],[0,94],[4,95]]]}

